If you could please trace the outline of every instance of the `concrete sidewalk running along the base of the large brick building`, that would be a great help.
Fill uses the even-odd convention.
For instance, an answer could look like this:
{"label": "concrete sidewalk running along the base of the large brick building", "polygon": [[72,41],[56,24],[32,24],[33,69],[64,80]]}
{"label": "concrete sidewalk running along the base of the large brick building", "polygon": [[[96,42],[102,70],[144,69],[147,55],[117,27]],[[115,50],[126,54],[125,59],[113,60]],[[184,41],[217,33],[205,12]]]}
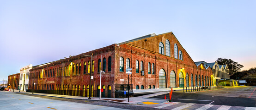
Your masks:
{"label": "concrete sidewalk running along the base of the large brick building", "polygon": [[[18,91],[14,90],[9,91],[12,93],[25,93],[25,94],[32,94],[30,92],[25,92],[25,91]],[[88,97],[80,97],[80,96],[71,96],[71,95],[59,95],[59,94],[48,94],[48,93],[33,93],[34,95],[43,95],[43,96],[49,96],[49,97],[58,97],[58,98],[66,98],[66,99],[83,99],[83,100],[95,100],[95,101],[105,101],[105,102],[113,102],[113,103],[120,103],[120,104],[141,104],[141,102],[168,102],[168,99],[149,99],[148,97],[153,97],[161,94],[165,94],[168,92],[160,92],[160,93],[153,93],[153,94],[148,94],[148,95],[142,95],[138,97],[130,97],[129,102],[128,98],[101,98],[99,97],[91,97],[91,99],[88,99]]]}

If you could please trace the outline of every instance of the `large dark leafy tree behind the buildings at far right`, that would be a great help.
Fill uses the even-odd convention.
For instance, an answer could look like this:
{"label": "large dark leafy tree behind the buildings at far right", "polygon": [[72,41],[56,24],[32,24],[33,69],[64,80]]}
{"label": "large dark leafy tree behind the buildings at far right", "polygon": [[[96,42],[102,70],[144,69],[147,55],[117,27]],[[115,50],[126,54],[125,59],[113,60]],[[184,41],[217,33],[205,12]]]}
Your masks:
{"label": "large dark leafy tree behind the buildings at far right", "polygon": [[243,65],[238,64],[238,62],[225,58],[218,58],[217,63],[218,65],[227,65],[229,69],[229,75],[233,75],[236,72],[241,71],[241,68],[244,67]]}

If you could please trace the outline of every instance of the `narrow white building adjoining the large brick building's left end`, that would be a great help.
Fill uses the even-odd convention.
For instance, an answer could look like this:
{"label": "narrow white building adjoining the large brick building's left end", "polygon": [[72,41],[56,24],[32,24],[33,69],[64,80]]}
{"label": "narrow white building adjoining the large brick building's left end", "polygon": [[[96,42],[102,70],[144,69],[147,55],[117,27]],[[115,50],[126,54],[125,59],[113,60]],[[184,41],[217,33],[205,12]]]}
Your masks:
{"label": "narrow white building adjoining the large brick building's left end", "polygon": [[26,91],[29,88],[29,70],[32,69],[32,64],[22,67],[20,70],[19,90]]}

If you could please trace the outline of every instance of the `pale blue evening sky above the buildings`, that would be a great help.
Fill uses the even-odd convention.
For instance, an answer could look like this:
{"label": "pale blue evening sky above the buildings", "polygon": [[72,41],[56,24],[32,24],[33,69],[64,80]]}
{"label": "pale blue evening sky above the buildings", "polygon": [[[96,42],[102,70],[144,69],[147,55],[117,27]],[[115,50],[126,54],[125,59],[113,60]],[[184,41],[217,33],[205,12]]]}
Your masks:
{"label": "pale blue evening sky above the buildings", "polygon": [[29,64],[167,32],[194,61],[256,67],[256,0],[1,0],[0,80]]}

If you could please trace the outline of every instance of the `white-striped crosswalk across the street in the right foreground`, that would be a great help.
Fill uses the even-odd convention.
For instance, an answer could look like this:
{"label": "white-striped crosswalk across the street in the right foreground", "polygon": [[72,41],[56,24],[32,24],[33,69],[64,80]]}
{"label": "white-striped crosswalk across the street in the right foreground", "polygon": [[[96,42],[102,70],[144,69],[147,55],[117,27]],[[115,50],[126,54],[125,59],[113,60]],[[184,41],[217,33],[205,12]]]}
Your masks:
{"label": "white-striped crosswalk across the street in the right foreground", "polygon": [[256,107],[242,107],[242,106],[228,106],[228,105],[214,105],[214,104],[194,104],[194,103],[180,103],[167,102],[161,104],[144,104],[141,106],[151,107],[156,109],[166,110],[256,110]]}

